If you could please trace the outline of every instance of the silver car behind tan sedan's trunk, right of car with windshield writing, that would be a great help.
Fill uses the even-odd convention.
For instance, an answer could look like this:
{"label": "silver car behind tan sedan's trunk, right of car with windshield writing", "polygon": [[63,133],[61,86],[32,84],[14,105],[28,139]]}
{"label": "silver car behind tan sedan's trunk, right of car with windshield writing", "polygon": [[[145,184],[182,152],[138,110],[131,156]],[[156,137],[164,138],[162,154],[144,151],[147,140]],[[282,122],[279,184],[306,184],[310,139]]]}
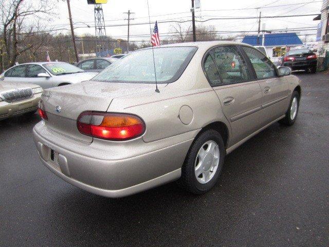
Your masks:
{"label": "silver car behind tan sedan's trunk, right of car with windshield writing", "polygon": [[117,60],[117,58],[90,58],[80,61],[76,66],[87,72],[101,72]]}

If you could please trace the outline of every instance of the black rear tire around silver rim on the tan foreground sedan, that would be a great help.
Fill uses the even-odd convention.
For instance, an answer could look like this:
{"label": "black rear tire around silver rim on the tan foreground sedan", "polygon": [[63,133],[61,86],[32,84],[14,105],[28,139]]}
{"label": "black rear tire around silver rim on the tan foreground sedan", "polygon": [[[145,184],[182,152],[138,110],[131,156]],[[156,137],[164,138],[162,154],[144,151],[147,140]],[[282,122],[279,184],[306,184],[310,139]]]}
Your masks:
{"label": "black rear tire around silver rim on the tan foreground sedan", "polygon": [[[215,171],[215,174],[212,175],[212,178],[207,183],[200,183],[196,179],[195,175],[195,162],[197,158],[198,151],[204,146],[208,141],[212,140],[218,145],[219,148],[219,161],[218,167]],[[215,130],[209,129],[200,133],[193,141],[190,150],[185,158],[184,165],[181,169],[181,177],[177,181],[180,187],[185,188],[187,191],[194,194],[203,194],[210,190],[218,181],[218,177],[222,172],[224,164],[224,142],[220,133]]]}

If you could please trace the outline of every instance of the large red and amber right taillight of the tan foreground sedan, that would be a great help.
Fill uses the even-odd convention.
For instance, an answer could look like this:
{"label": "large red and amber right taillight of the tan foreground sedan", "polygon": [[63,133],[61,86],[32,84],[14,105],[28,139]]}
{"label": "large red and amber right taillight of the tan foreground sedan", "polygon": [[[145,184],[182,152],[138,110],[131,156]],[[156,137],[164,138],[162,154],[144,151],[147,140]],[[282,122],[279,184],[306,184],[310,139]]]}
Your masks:
{"label": "large red and amber right taillight of the tan foreground sedan", "polygon": [[131,114],[84,112],[77,120],[80,133],[108,140],[127,140],[145,131],[142,119]]}

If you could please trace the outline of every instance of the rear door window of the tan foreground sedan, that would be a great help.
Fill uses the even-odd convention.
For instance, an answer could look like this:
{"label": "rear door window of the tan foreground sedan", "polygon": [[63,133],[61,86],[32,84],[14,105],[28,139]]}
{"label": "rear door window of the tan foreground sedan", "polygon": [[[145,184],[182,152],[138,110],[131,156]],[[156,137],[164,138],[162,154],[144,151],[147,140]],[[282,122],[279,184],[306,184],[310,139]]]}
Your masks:
{"label": "rear door window of the tan foreground sedan", "polygon": [[210,51],[210,55],[224,85],[251,79],[248,66],[236,46],[218,46]]}

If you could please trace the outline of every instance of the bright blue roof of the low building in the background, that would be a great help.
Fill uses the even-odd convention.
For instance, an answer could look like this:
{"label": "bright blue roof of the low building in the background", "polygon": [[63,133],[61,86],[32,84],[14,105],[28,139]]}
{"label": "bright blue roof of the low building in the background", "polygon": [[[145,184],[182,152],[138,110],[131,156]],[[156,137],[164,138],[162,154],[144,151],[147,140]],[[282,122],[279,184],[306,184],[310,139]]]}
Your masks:
{"label": "bright blue roof of the low building in the background", "polygon": [[[264,39],[264,46],[303,44],[303,42],[297,36],[296,32],[266,33]],[[257,35],[247,35],[243,38],[242,43],[246,43],[249,45],[262,45],[262,34],[260,34],[259,38]]]}

